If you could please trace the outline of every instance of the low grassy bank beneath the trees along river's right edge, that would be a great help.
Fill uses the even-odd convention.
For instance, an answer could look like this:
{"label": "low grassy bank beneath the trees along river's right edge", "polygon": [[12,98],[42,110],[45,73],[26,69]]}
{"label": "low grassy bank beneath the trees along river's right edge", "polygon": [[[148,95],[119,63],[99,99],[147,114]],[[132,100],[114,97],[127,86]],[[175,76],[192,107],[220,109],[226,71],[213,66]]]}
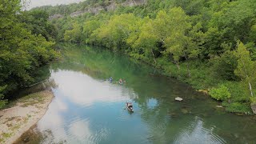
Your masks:
{"label": "low grassy bank beneath the trees along river's right edge", "polygon": [[[230,93],[230,98],[215,99],[222,101],[222,106],[229,112],[253,114],[250,108],[251,99],[250,92],[247,90],[247,83],[223,80],[221,77],[218,77],[218,74],[214,74],[216,70],[213,70],[208,63],[183,62],[179,65],[178,69],[174,63],[166,62],[162,59],[158,59],[157,62],[158,64],[155,67],[162,69],[165,75],[189,83],[195,90],[202,93],[210,95],[214,90],[221,90],[220,87],[225,86],[228,93]],[[187,66],[190,66],[190,76]],[[225,91],[220,91],[220,93],[223,94]],[[210,96],[214,98],[213,95]]]}

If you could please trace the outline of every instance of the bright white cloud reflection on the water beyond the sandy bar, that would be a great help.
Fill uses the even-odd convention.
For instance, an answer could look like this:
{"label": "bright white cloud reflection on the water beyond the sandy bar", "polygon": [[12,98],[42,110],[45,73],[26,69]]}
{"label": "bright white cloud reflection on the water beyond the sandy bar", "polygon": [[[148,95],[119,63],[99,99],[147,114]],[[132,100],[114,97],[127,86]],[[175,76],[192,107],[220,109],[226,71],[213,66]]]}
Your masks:
{"label": "bright white cloud reflection on the water beyond the sandy bar", "polygon": [[52,78],[59,84],[58,93],[78,105],[126,101],[130,97],[128,90],[123,87],[110,82],[99,82],[79,72],[59,70],[52,74]]}

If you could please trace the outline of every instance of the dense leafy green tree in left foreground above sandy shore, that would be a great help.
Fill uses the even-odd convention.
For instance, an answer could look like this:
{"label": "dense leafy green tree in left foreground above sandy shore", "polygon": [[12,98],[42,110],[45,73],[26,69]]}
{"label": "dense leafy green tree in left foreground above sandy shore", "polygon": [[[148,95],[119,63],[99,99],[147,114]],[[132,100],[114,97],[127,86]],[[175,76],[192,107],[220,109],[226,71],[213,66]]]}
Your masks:
{"label": "dense leafy green tree in left foreground above sandy shore", "polygon": [[[0,4],[0,95],[33,82],[34,70],[57,56],[54,42],[38,32],[31,33],[33,23],[26,23],[19,0]],[[44,28],[42,28],[44,29]]]}

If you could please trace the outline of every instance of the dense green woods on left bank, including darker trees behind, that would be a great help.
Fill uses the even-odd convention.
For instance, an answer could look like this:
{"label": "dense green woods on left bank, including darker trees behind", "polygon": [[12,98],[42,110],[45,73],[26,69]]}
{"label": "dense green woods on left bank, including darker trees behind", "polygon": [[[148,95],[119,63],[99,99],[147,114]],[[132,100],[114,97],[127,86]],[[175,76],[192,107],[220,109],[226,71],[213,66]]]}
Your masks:
{"label": "dense green woods on left bank, including darker trees behind", "polygon": [[15,90],[30,86],[39,66],[58,58],[54,26],[43,10],[22,11],[20,0],[0,3],[0,108]]}

